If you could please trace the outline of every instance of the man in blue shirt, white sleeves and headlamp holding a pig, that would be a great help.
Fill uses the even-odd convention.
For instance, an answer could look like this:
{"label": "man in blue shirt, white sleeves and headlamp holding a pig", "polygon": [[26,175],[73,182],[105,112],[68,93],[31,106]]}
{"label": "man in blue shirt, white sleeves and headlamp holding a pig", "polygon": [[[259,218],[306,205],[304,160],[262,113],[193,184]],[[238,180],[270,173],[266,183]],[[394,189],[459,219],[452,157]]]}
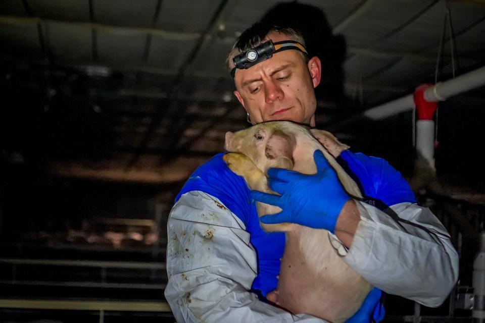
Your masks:
{"label": "man in blue shirt, white sleeves and headlamp holding a pig", "polygon": [[[274,47],[266,44],[266,51],[261,51],[258,46],[269,40]],[[268,51],[272,56],[261,60]],[[320,81],[321,63],[305,52],[302,37],[293,30],[259,24],[241,34],[228,67],[234,94],[253,124],[290,120],[315,126],[313,89]],[[237,67],[234,57],[239,57]],[[317,154],[315,159],[317,165],[322,163]],[[336,252],[384,292],[427,306],[441,304],[458,276],[458,256],[444,227],[429,209],[413,204],[409,186],[384,160],[343,151],[337,161],[360,184],[366,202],[345,192],[326,195],[328,188],[343,191],[332,170],[317,180],[292,172],[292,180],[273,169],[268,172],[270,186],[278,184],[273,187],[278,191],[285,182],[292,188],[289,195],[279,191],[281,198],[251,193],[227,168],[222,154],[196,170],[177,196],[168,221],[165,296],[177,321],[322,321],[292,315],[264,301],[277,285],[284,234],[262,231],[254,199],[283,209],[262,221],[289,220],[333,232]],[[309,201],[303,212],[292,195]],[[351,320],[382,318],[375,291],[379,292],[373,290]]]}

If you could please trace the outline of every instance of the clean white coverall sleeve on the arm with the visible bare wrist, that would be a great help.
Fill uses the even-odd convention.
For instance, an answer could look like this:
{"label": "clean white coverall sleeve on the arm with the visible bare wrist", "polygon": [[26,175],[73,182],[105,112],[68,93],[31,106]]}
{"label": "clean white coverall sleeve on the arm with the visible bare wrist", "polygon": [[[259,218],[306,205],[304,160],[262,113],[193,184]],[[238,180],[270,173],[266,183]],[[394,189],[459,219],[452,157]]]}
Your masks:
{"label": "clean white coverall sleeve on the arm with the visible bare wrist", "polygon": [[361,221],[350,249],[336,245],[332,236],[343,259],[386,293],[430,307],[442,304],[458,279],[458,254],[440,221],[428,208],[412,203],[391,206],[409,223],[356,203]]}

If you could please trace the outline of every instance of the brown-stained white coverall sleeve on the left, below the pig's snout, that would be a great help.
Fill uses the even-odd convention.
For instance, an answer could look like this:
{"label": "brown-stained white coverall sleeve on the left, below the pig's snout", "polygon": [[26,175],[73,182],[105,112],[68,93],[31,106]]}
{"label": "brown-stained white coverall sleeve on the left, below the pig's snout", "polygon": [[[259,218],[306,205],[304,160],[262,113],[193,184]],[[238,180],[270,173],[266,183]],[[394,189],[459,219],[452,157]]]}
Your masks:
{"label": "brown-stained white coverall sleeve on the left, below the pig's snout", "polygon": [[325,322],[262,302],[249,292],[256,252],[244,224],[218,199],[190,191],[168,220],[165,297],[177,322]]}

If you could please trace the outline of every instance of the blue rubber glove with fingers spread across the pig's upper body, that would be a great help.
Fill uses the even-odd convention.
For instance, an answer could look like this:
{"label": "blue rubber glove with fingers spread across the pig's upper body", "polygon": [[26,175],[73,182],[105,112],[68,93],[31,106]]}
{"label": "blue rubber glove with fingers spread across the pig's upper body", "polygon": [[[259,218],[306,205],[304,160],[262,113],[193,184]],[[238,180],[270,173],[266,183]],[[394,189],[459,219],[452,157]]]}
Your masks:
{"label": "blue rubber glove with fingers spread across the pig's upper body", "polygon": [[260,191],[252,191],[251,195],[257,201],[280,207],[282,211],[261,217],[262,223],[291,222],[335,232],[338,215],[350,197],[323,153],[315,150],[313,158],[317,166],[314,175],[278,168],[268,170],[268,185],[281,196]]}

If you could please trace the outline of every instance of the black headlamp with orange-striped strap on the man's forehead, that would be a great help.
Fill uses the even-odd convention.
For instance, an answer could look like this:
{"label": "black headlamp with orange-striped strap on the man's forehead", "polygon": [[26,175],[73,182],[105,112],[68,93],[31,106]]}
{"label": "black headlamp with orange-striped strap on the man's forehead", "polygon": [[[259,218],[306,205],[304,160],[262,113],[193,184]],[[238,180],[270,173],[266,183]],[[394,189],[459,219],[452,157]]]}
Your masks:
{"label": "black headlamp with orange-striped strap on the man's forehead", "polygon": [[271,40],[268,40],[267,42],[250,48],[245,52],[241,52],[232,59],[232,62],[234,63],[234,68],[231,70],[232,78],[234,78],[234,75],[236,74],[236,69],[249,69],[258,63],[272,58],[274,53],[287,49],[300,50],[305,56],[308,56],[307,49],[298,41],[283,40],[273,43]]}

